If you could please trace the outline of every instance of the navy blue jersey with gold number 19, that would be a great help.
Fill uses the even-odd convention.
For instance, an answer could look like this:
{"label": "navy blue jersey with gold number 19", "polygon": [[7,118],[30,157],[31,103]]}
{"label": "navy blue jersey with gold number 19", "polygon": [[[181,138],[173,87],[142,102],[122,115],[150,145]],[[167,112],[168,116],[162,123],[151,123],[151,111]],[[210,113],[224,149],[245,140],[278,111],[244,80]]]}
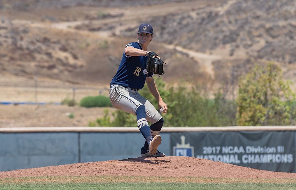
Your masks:
{"label": "navy blue jersey with gold number 19", "polygon": [[[142,50],[138,42],[127,44],[126,47],[128,46]],[[128,56],[124,52],[117,73],[113,77],[110,85],[118,84],[136,89],[143,88],[146,77],[153,77],[153,73],[147,73],[146,61],[147,56]]]}

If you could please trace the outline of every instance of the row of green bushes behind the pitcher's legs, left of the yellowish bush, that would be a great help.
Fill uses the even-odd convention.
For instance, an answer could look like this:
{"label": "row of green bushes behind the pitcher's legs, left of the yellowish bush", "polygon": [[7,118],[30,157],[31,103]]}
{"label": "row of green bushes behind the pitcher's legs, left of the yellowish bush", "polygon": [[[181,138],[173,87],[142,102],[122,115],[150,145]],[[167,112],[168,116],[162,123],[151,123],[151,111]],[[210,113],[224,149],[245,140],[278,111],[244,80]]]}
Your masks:
{"label": "row of green bushes behind the pitcher's legs, left of the yellowish bush", "polygon": [[[168,113],[162,114],[164,126],[232,126],[235,125],[236,102],[226,100],[222,93],[215,94],[211,100],[201,95],[197,87],[188,90],[184,85],[174,88],[165,87],[164,81],[155,77],[155,83],[168,105]],[[145,85],[139,92],[158,109],[157,100]],[[114,120],[105,113],[96,121],[98,126],[137,126],[136,116],[117,110]],[[94,123],[90,123],[90,126]]]}

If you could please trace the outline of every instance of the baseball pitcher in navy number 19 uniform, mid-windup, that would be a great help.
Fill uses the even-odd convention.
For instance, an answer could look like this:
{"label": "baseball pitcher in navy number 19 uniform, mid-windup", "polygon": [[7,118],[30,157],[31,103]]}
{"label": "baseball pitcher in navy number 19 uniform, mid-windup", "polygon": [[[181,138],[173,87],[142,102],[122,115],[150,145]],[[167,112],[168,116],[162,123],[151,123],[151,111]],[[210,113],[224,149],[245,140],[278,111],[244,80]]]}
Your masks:
{"label": "baseball pitcher in navy number 19 uniform, mid-windup", "polygon": [[[157,99],[158,109],[163,113],[168,111],[167,104],[162,100],[153,79],[153,74],[163,74],[157,71],[161,70],[157,67],[162,61],[155,52],[147,50],[148,44],[153,39],[153,27],[150,24],[144,23],[139,26],[137,38],[137,42],[129,43],[125,47],[119,68],[110,83],[110,102],[115,108],[137,116],[138,128],[145,139],[141,156],[163,157],[164,153],[159,152],[157,147],[161,143],[159,133],[164,120],[157,109],[138,93],[146,81],[150,93]],[[147,59],[148,62],[156,60],[152,63],[155,68],[154,66],[148,68]],[[152,123],[150,127],[147,121]]]}

